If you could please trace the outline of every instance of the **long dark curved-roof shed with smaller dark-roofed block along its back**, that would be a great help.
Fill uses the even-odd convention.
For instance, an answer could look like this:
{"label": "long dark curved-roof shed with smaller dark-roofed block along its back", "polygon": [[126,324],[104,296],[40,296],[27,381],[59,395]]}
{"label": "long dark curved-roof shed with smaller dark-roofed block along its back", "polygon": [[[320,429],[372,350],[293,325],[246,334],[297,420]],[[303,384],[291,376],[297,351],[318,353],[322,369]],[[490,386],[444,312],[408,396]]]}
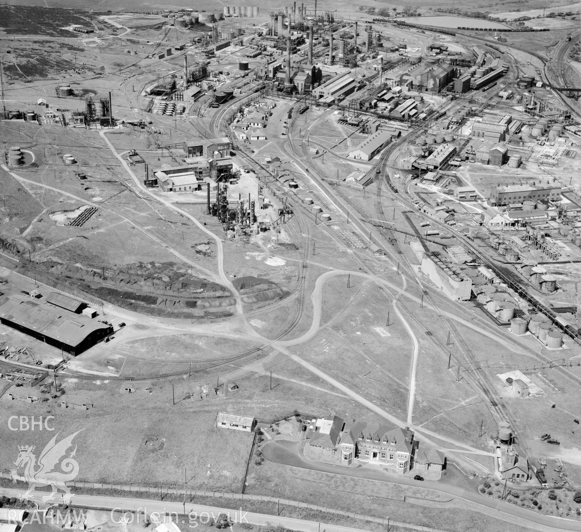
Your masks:
{"label": "long dark curved-roof shed with smaller dark-roofed block along its back", "polygon": [[[41,342],[62,348],[74,356],[83,353],[113,333],[112,325],[101,323],[82,314],[75,314],[75,311],[61,305],[55,306],[54,303],[49,303],[52,294],[56,293],[52,292],[44,303],[37,299],[29,299],[20,293],[1,297],[0,323]],[[66,297],[63,294],[57,295]],[[55,296],[52,300],[59,300],[60,303],[69,304],[71,308],[75,308],[73,304],[66,303]],[[80,301],[78,304],[82,305]]]}

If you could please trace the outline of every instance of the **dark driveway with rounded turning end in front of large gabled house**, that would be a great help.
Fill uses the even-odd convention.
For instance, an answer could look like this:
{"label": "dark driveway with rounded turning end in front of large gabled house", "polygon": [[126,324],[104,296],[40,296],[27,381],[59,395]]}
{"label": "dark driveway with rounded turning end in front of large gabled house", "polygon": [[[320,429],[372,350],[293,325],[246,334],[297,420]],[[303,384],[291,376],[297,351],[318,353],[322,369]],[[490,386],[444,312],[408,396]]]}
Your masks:
{"label": "dark driveway with rounded turning end in front of large gabled house", "polygon": [[[377,480],[380,482],[400,484],[401,486],[418,487],[418,481],[413,480],[410,477],[396,475],[395,473],[387,473],[378,469],[346,468],[330,463],[311,461],[305,458],[302,452],[302,443],[297,441],[269,441],[263,445],[262,455],[269,462],[279,463],[281,465],[292,466],[295,468],[309,469],[311,471],[321,471],[324,473],[333,473],[334,475],[349,476],[357,479]],[[540,513],[534,513],[530,510],[520,508],[519,506],[509,504],[508,502],[501,502],[497,501],[496,499],[484,497],[479,493],[468,491],[461,487],[435,482],[429,482],[425,487],[431,490],[439,491],[440,493],[453,495],[454,497],[464,499],[465,501],[474,502],[480,506],[483,506],[484,508],[490,509],[491,511],[496,511],[500,515],[494,515],[493,512],[489,513],[486,510],[484,513],[489,513],[490,516],[496,517],[497,519],[504,519],[504,515],[511,515],[518,517],[518,519],[522,519],[523,526],[530,526],[530,524],[534,523],[548,527],[546,530],[581,531],[581,523],[579,522],[560,519],[559,517],[541,515]]]}

